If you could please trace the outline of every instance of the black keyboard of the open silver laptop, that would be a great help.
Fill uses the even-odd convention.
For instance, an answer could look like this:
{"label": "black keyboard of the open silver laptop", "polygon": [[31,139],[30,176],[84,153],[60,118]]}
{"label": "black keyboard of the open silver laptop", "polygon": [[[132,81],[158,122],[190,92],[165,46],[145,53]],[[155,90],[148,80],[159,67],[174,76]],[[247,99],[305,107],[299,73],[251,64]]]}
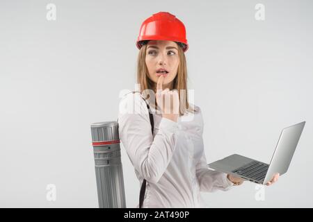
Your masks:
{"label": "black keyboard of the open silver laptop", "polygon": [[252,161],[243,167],[239,167],[232,171],[232,173],[237,173],[246,178],[250,178],[253,180],[262,180],[266,176],[266,172],[268,170],[268,164],[264,164],[258,161]]}

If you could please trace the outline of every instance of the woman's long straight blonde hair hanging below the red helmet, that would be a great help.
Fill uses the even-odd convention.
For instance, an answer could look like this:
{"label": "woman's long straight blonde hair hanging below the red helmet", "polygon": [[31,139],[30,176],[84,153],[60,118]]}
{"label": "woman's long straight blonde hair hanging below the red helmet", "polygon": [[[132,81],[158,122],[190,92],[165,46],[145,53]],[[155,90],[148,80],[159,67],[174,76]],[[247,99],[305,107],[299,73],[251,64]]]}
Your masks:
{"label": "woman's long straight blonde hair hanging below the red helmet", "polygon": [[[195,112],[195,110],[191,108],[191,105],[189,105],[188,103],[186,57],[182,48],[180,46],[178,46],[177,48],[179,56],[179,65],[177,69],[177,75],[172,80],[173,81],[172,88],[178,90],[180,101],[179,116],[182,116],[186,114],[186,112]],[[144,44],[138,53],[137,60],[137,83],[140,84],[141,86],[141,94],[143,94],[143,96],[146,96],[145,95],[145,92],[147,92],[146,89],[153,89],[154,93],[156,93],[157,88],[157,84],[154,83],[148,76],[147,65],[145,64],[146,49],[147,44]],[[157,101],[155,101],[155,104],[157,104]]]}

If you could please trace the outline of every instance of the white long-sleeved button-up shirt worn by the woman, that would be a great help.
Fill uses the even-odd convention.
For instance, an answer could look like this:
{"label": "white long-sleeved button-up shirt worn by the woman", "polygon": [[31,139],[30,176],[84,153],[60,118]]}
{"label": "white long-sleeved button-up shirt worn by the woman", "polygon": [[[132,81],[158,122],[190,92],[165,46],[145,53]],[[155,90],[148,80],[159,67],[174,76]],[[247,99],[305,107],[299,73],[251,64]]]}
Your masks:
{"label": "white long-sleeved button-up shirt worn by the woman", "polygon": [[157,114],[154,101],[147,103],[154,117],[153,136],[140,93],[126,94],[118,114],[120,140],[140,187],[143,178],[147,180],[143,207],[206,207],[200,191],[227,190],[232,182],[226,173],[207,167],[200,108],[193,105],[197,112],[184,114],[175,122]]}

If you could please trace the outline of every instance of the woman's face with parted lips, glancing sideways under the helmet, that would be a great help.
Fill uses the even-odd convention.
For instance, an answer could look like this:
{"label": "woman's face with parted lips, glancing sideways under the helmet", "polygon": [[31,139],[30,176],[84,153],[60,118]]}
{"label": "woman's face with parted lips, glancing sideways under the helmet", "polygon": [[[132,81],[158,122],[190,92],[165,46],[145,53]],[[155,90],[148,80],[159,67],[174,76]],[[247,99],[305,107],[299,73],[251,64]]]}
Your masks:
{"label": "woman's face with parted lips, glancing sideways under the helmet", "polygon": [[164,75],[163,89],[172,89],[172,80],[177,75],[179,65],[178,49],[175,42],[150,40],[145,53],[145,64],[149,78],[157,83],[159,76]]}

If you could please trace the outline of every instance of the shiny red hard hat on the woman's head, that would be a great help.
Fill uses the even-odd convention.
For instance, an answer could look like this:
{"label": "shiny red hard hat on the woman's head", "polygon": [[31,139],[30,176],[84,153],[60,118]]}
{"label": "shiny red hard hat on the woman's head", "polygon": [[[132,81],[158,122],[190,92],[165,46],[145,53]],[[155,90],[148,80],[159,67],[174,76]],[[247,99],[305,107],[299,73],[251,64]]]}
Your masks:
{"label": "shiny red hard hat on the woman's head", "polygon": [[188,49],[184,24],[169,12],[158,12],[145,19],[136,42],[141,49],[145,40],[169,40],[177,42],[183,51]]}

